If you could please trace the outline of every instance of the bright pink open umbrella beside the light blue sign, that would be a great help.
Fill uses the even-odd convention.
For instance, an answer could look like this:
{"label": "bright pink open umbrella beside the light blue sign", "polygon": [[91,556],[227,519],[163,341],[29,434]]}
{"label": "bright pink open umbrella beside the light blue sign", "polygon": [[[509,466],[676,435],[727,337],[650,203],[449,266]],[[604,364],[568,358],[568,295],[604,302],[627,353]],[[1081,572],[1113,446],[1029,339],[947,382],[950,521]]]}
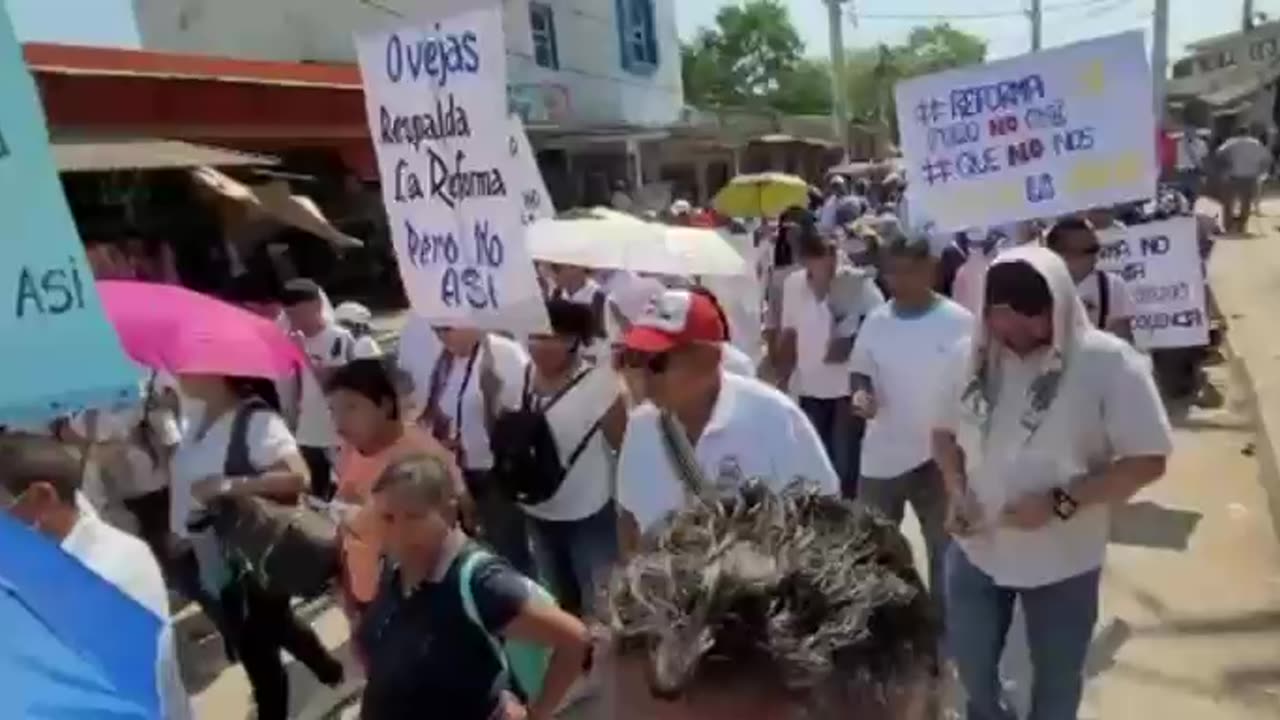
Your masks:
{"label": "bright pink open umbrella beside the light blue sign", "polygon": [[124,351],[173,374],[280,378],[306,359],[273,322],[173,284],[101,281],[99,295]]}

